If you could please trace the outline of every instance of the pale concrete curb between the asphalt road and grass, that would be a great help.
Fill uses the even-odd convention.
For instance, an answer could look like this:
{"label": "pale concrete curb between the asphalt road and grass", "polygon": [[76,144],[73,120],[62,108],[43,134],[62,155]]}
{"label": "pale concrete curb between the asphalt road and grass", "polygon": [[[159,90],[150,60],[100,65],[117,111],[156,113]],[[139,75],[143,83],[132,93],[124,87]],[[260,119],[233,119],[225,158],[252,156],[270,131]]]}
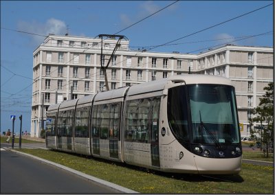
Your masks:
{"label": "pale concrete curb between the asphalt road and grass", "polygon": [[48,161],[48,160],[45,160],[45,159],[41,159],[41,158],[36,157],[36,156],[34,156],[34,155],[32,155],[32,154],[26,154],[26,153],[24,153],[24,152],[19,152],[19,151],[17,151],[17,150],[12,150],[12,149],[10,149],[10,148],[4,148],[4,149],[5,149],[5,150],[10,150],[10,151],[12,151],[12,152],[17,152],[17,153],[19,153],[19,154],[23,154],[23,155],[25,155],[25,156],[27,156],[27,157],[31,157],[31,158],[33,158],[33,159],[42,161],[42,162],[44,162],[44,163],[48,163],[48,164],[50,164],[50,165],[54,165],[54,166],[56,166],[56,167],[58,167],[58,168],[61,168],[61,169],[63,169],[63,170],[66,170],[66,171],[68,171],[68,172],[72,172],[72,173],[74,173],[74,174],[77,174],[78,176],[83,176],[84,178],[89,179],[89,180],[91,180],[91,181],[94,181],[94,182],[96,182],[96,183],[100,183],[100,184],[102,184],[102,185],[107,185],[108,187],[111,187],[111,188],[113,188],[114,190],[118,190],[118,191],[120,191],[120,192],[122,192],[122,193],[130,193],[130,194],[139,193],[139,192],[135,192],[135,191],[133,191],[133,190],[130,190],[130,189],[126,188],[126,187],[122,187],[122,186],[120,186],[120,185],[117,185],[117,184],[115,184],[115,183],[111,183],[111,182],[109,182],[109,181],[104,181],[104,180],[102,180],[102,179],[98,179],[98,178],[96,178],[96,177],[94,177],[94,176],[91,176],[91,175],[89,175],[89,174],[85,174],[85,173],[83,173],[83,172],[79,172],[79,171],[74,170],[74,169],[72,169],[72,168],[68,168],[68,167],[66,167],[66,166],[64,166],[64,165],[61,165],[61,164],[58,164],[58,163],[54,163],[54,162],[52,162],[52,161]]}

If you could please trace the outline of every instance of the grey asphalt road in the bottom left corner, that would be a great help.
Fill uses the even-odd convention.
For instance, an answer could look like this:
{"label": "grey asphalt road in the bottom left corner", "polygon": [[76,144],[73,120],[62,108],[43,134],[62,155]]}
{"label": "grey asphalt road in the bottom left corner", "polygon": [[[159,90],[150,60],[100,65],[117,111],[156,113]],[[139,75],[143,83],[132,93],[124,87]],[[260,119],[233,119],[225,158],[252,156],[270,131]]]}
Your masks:
{"label": "grey asphalt road in the bottom left corner", "polygon": [[2,193],[121,193],[53,165],[1,150]]}

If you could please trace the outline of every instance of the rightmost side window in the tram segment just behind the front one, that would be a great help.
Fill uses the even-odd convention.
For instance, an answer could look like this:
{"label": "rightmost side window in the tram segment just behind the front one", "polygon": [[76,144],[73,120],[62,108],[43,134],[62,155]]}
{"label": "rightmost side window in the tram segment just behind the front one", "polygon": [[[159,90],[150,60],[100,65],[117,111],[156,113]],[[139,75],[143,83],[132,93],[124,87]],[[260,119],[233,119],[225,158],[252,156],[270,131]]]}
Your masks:
{"label": "rightmost side window in the tram segment just behind the front one", "polygon": [[110,123],[109,123],[110,138],[120,137],[120,112],[121,112],[121,103],[110,104]]}

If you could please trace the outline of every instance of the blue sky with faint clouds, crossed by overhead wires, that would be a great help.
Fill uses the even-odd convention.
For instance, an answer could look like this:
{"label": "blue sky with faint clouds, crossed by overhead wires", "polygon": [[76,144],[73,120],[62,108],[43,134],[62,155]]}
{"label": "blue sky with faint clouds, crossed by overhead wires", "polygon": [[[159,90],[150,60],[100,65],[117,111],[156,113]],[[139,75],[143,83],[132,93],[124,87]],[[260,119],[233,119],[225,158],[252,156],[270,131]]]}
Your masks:
{"label": "blue sky with faint clouds, crossed by overhead wires", "polygon": [[[30,132],[33,51],[49,33],[95,37],[115,34],[175,1],[1,1],[1,132]],[[131,49],[162,45],[256,10],[273,1],[178,1],[119,34]],[[273,47],[274,5],[182,38],[177,45],[151,51],[197,54],[201,49],[235,41],[235,45]],[[10,30],[6,30],[10,29]],[[30,32],[25,34],[14,32]],[[264,34],[271,32],[269,34]],[[245,36],[254,36],[237,41]]]}

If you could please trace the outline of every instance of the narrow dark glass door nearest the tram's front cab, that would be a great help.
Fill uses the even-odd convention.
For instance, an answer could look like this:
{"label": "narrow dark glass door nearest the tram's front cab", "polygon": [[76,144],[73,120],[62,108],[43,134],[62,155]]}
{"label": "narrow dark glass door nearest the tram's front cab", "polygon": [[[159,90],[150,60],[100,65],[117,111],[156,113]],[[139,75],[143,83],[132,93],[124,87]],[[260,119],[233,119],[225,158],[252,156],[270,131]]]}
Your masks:
{"label": "narrow dark glass door nearest the tram's front cab", "polygon": [[159,106],[160,98],[151,102],[151,159],[152,165],[159,167]]}

